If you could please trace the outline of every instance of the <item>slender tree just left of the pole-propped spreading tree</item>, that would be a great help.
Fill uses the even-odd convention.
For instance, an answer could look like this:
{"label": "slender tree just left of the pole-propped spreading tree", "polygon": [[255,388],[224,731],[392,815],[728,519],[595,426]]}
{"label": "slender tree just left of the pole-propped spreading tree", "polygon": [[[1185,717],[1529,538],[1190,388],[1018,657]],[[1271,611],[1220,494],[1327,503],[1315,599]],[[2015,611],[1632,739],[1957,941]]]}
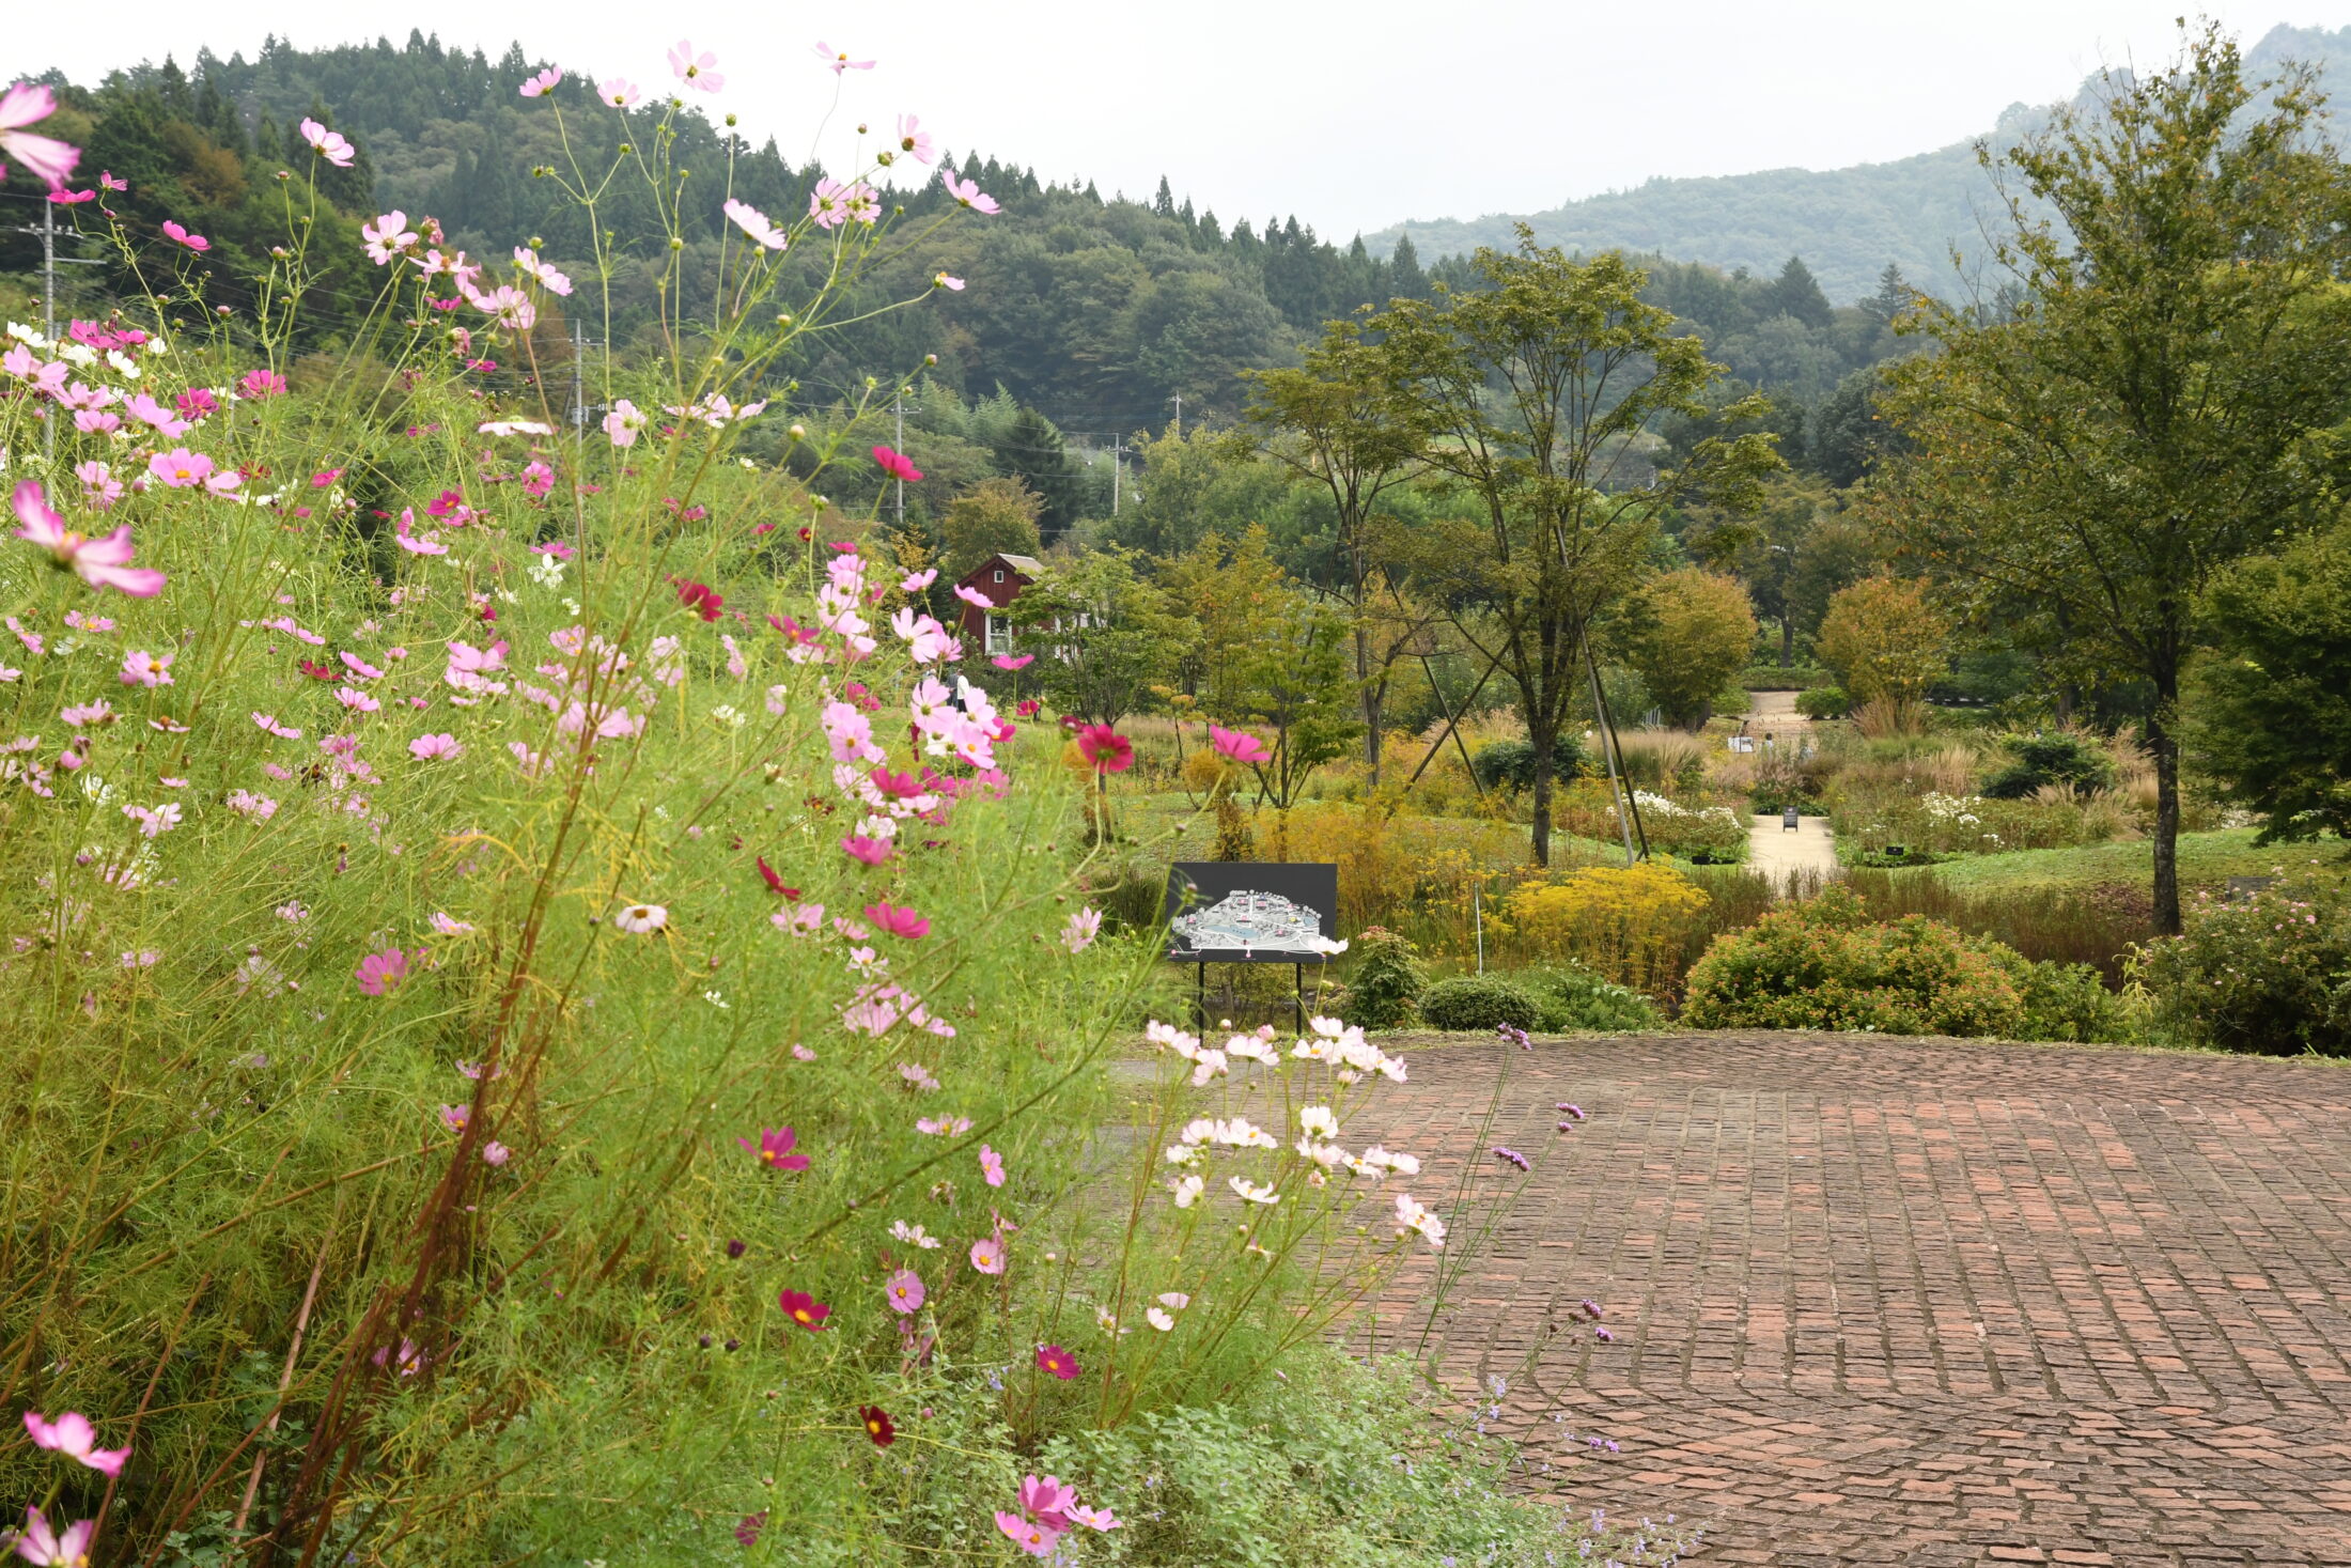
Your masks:
{"label": "slender tree just left of the pole-propped spreading tree", "polygon": [[1354,320],[1326,322],[1324,341],[1298,369],[1253,371],[1251,421],[1272,435],[1267,451],[1331,494],[1338,517],[1338,592],[1349,614],[1354,689],[1364,710],[1364,759],[1380,783],[1380,710],[1404,649],[1422,625],[1375,616],[1373,597],[1392,569],[1375,545],[1380,496],[1420,468],[1422,409],[1404,395],[1394,357],[1364,341]]}

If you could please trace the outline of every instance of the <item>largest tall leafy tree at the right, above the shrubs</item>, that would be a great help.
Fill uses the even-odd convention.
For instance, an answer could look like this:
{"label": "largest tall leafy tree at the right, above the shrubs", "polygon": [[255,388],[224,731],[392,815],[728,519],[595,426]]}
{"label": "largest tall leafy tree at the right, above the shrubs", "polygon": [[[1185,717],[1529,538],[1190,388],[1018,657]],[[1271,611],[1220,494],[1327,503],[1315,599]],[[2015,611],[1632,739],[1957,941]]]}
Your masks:
{"label": "largest tall leafy tree at the right, above the shrubs", "polygon": [[[2179,929],[2182,668],[2229,562],[2309,524],[2351,395],[2344,169],[2309,71],[2248,82],[2208,26],[2008,153],[2008,320],[1925,308],[1890,376],[1918,447],[1878,515],[1984,602],[2064,635],[2057,679],[2154,691],[2154,912]],[[1989,150],[1987,150],[1989,162]],[[2045,209],[2055,221],[2034,216]]]}

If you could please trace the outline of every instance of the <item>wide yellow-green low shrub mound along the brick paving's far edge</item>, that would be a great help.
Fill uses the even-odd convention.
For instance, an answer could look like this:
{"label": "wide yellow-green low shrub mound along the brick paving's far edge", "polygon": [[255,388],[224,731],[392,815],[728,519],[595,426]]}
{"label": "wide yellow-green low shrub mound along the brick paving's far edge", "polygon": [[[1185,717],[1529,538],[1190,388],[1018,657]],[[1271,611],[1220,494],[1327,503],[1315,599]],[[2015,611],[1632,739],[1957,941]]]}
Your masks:
{"label": "wide yellow-green low shrub mound along the brick paving's far edge", "polygon": [[1714,940],[1690,969],[1702,1030],[1876,1030],[2111,1039],[2121,1011],[2088,964],[2034,964],[1923,914],[1871,922],[1831,886]]}

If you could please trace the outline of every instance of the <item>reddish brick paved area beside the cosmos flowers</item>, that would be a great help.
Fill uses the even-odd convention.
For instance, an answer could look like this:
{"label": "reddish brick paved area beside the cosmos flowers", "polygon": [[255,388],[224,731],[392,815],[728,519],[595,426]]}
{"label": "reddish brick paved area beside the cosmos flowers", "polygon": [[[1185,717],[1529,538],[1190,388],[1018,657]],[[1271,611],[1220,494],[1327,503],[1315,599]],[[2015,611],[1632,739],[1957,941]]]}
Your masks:
{"label": "reddish brick paved area beside the cosmos flowers", "polygon": [[1425,1199],[1538,1161],[1446,1354],[1578,1507],[1726,1566],[2351,1563],[2351,1067],[1686,1034],[1411,1077],[1361,1133],[1441,1154]]}

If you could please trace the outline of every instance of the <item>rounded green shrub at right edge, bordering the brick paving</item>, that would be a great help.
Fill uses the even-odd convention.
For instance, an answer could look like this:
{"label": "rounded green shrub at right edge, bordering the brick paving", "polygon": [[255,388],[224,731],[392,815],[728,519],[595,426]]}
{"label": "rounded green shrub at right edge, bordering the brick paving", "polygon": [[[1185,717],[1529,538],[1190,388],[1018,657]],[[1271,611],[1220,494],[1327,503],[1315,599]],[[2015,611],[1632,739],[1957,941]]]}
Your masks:
{"label": "rounded green shrub at right edge, bordering the brick paving", "polygon": [[2186,931],[2137,950],[2149,1032],[2257,1056],[2351,1056],[2351,896],[2304,875],[2238,900],[2198,893]]}

